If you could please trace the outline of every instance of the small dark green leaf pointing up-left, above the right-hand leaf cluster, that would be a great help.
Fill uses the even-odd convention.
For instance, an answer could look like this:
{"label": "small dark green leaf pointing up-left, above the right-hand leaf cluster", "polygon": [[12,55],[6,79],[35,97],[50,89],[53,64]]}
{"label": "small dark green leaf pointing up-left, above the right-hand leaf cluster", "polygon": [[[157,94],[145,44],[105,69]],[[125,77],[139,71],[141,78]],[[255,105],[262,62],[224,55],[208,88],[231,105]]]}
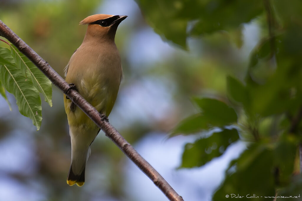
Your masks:
{"label": "small dark green leaf pointing up-left, above the right-hand leaf cluster", "polygon": [[234,101],[241,102],[244,104],[247,102],[248,94],[246,88],[239,80],[230,76],[226,77],[226,87],[228,96]]}

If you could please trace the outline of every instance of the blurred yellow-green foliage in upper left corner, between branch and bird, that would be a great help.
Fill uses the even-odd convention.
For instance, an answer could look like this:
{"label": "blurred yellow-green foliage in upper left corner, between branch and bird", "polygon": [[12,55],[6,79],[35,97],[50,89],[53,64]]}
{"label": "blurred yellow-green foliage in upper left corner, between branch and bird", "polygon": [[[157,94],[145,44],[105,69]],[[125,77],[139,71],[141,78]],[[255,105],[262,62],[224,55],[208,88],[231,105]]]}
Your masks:
{"label": "blurred yellow-green foliage in upper left corner, between branch and bird", "polygon": [[[75,25],[90,15],[100,1],[92,0],[89,3],[84,0],[8,1],[7,3],[7,7],[0,8],[1,20],[24,41],[31,41],[28,45],[42,58],[54,61],[51,66],[63,76],[61,67],[66,66],[85,34],[84,26]],[[18,23],[15,23],[16,21]],[[69,52],[69,55],[66,52]]]}

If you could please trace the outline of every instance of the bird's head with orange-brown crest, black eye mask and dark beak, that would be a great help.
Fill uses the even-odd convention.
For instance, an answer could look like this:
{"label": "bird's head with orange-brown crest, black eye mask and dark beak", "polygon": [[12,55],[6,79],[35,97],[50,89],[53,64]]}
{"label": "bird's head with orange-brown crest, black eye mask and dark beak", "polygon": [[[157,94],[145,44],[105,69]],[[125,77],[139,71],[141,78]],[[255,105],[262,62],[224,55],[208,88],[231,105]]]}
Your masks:
{"label": "bird's head with orange-brown crest, black eye mask and dark beak", "polygon": [[95,14],[86,17],[80,24],[88,24],[86,36],[114,40],[117,26],[126,17],[127,15]]}

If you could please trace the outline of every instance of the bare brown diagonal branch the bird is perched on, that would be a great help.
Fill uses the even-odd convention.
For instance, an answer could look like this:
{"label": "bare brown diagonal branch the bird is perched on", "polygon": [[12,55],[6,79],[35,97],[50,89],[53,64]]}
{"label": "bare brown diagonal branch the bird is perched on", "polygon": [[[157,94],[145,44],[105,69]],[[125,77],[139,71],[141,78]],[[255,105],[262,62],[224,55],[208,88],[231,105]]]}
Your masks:
{"label": "bare brown diagonal branch the bird is perched on", "polygon": [[29,58],[49,79],[65,93],[85,114],[101,128],[105,135],[112,140],[124,154],[143,171],[154,184],[169,198],[169,200],[183,200],[167,181],[145,160],[137,151],[115,130],[111,124],[104,121],[101,114],[90,105],[76,90],[69,90],[70,86],[50,67],[33,49],[20,39],[10,28],[0,20],[0,36],[8,39],[20,52]]}

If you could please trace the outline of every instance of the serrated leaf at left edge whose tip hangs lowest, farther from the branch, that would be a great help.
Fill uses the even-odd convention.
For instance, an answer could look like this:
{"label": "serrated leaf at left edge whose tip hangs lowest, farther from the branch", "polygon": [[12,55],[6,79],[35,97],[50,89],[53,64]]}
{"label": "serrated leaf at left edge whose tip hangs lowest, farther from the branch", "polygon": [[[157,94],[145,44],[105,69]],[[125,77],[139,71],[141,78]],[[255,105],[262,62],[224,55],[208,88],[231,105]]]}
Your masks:
{"label": "serrated leaf at left edge whose tip hangs lowest, farther from the branch", "polygon": [[20,69],[12,64],[0,65],[0,80],[5,89],[17,100],[19,111],[29,117],[37,130],[42,121],[41,99],[31,80],[22,76]]}

